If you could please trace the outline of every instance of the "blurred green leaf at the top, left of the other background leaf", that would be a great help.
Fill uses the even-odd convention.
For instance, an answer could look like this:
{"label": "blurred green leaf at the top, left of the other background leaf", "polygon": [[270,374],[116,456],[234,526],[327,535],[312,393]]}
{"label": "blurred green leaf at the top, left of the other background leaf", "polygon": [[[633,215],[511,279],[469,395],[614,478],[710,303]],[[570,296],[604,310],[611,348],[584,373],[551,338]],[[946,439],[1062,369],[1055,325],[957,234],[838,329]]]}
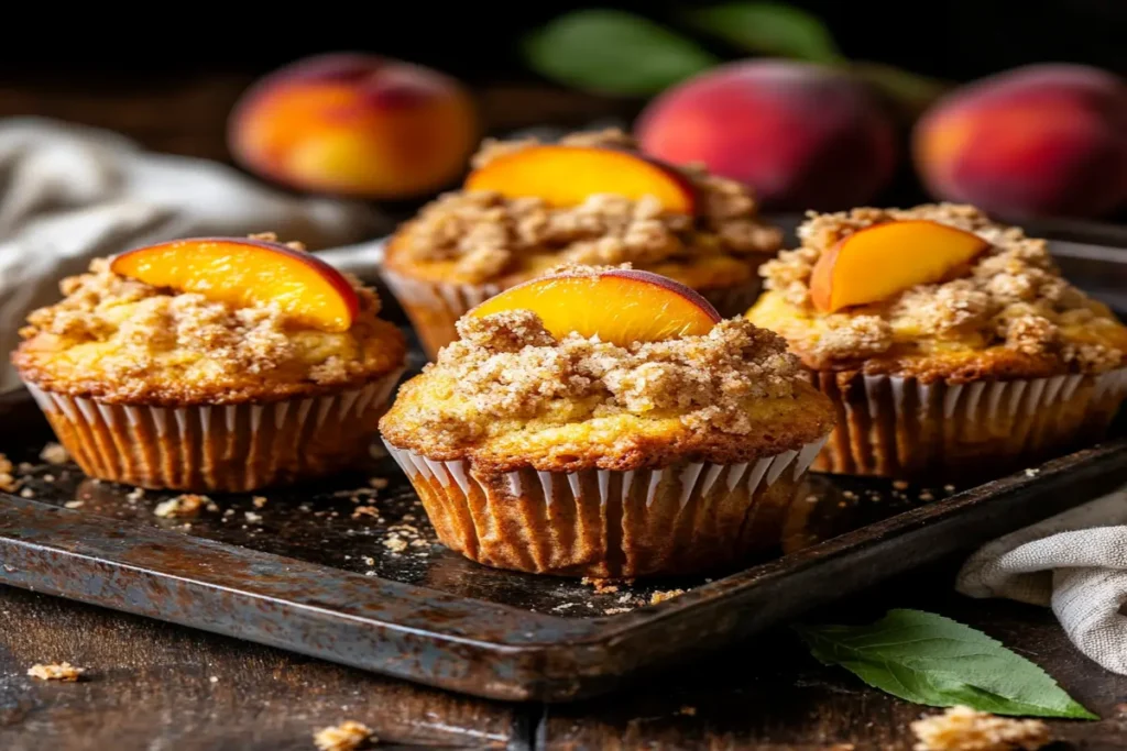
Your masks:
{"label": "blurred green leaf at the top, left of the other background leaf", "polygon": [[696,43],[619,10],[579,10],[525,37],[540,74],[598,93],[649,96],[719,62]]}

